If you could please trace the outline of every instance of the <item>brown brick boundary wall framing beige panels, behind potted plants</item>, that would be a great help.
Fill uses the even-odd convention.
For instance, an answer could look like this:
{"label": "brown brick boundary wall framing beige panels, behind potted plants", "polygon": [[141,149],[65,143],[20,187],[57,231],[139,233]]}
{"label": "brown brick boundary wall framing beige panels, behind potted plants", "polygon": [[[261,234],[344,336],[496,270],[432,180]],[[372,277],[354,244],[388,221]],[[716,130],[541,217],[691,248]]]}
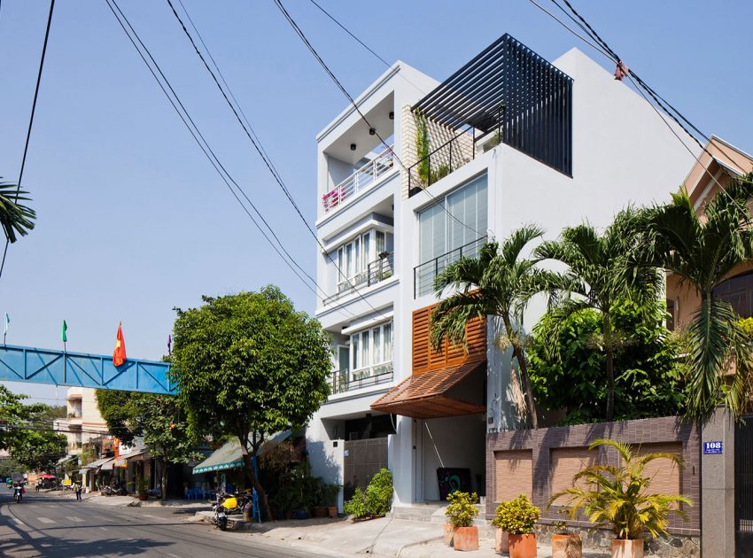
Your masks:
{"label": "brown brick boundary wall framing beige panels, behind potted plants", "polygon": [[[641,419],[625,422],[598,422],[541,428],[539,430],[510,430],[486,434],[486,517],[492,519],[499,502],[495,500],[495,452],[530,450],[532,452],[532,500],[541,509],[544,534],[550,531],[545,525],[560,520],[557,507],[547,513],[547,503],[552,495],[552,470],[550,457],[553,449],[588,446],[594,439],[611,438],[636,446],[641,444],[680,443],[685,468],[679,471],[680,491],[692,502],[686,508],[688,521],[672,516],[669,532],[682,539],[697,539],[701,535],[701,452],[700,438],[695,425],[681,422],[676,416]],[[594,453],[598,450],[594,450]],[[617,452],[609,448],[599,452],[599,461],[619,464]],[[655,461],[661,462],[661,461]],[[592,527],[587,521],[568,522],[574,527]],[[584,546],[586,540],[584,539]],[[663,554],[663,553],[661,553]]]}

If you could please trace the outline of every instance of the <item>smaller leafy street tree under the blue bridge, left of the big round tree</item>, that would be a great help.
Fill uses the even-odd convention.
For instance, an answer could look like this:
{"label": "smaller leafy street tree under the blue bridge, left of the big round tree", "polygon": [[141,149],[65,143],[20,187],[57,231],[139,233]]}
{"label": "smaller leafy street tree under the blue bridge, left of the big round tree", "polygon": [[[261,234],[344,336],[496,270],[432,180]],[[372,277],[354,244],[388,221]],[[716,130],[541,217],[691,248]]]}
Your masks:
{"label": "smaller leafy street tree under the blue bridge, left of the big round tree", "polygon": [[167,464],[198,459],[200,439],[189,431],[186,414],[177,397],[136,391],[97,390],[99,414],[107,428],[130,444],[144,438],[152,457],[161,462],[162,500],[167,498]]}

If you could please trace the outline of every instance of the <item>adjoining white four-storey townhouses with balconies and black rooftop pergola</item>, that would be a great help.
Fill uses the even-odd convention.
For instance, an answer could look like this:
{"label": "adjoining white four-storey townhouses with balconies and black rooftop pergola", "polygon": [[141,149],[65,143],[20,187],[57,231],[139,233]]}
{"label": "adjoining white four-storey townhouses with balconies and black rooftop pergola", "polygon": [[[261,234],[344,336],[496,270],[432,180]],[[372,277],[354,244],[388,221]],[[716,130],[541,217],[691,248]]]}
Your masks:
{"label": "adjoining white four-storey townhouses with balconies and black rooftop pergola", "polygon": [[585,54],[550,64],[509,35],[441,84],[396,62],[356,103],[373,129],[351,106],[316,138],[316,317],[334,359],[307,430],[314,475],[347,497],[389,465],[400,507],[439,500],[438,469],[463,469],[442,477],[484,495],[487,433],[519,425],[510,357],[491,321],[470,325],[468,353],[431,350],[434,278],[524,223],[555,237],[663,200],[694,159]]}

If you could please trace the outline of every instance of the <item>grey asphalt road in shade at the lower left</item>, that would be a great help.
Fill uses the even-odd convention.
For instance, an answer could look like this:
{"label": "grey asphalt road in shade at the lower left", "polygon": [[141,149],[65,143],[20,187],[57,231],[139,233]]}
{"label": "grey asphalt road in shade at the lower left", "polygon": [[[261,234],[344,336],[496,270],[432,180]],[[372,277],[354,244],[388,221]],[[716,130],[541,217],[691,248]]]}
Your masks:
{"label": "grey asphalt road in shade at the lower left", "polygon": [[195,509],[123,508],[35,493],[20,504],[0,486],[0,556],[170,556],[303,558],[312,553],[272,545],[247,533],[186,523]]}

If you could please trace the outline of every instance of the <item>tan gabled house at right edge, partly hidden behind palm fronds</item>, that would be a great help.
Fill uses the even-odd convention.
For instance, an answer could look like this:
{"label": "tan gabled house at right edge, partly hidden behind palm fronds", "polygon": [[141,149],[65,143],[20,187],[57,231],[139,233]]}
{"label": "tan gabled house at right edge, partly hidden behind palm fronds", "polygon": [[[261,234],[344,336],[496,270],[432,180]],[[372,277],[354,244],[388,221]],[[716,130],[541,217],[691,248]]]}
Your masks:
{"label": "tan gabled house at right edge, partly hidden behind palm fronds", "polygon": [[[719,185],[726,187],[730,178],[751,171],[753,156],[711,136],[706,151],[699,155],[681,187],[687,190],[696,213],[703,213],[703,206],[718,193]],[[726,282],[717,287],[716,294],[732,304],[743,318],[753,317],[753,266],[747,263],[734,269]],[[686,325],[700,304],[701,296],[692,287],[680,285],[677,275],[667,275],[670,329]]]}

